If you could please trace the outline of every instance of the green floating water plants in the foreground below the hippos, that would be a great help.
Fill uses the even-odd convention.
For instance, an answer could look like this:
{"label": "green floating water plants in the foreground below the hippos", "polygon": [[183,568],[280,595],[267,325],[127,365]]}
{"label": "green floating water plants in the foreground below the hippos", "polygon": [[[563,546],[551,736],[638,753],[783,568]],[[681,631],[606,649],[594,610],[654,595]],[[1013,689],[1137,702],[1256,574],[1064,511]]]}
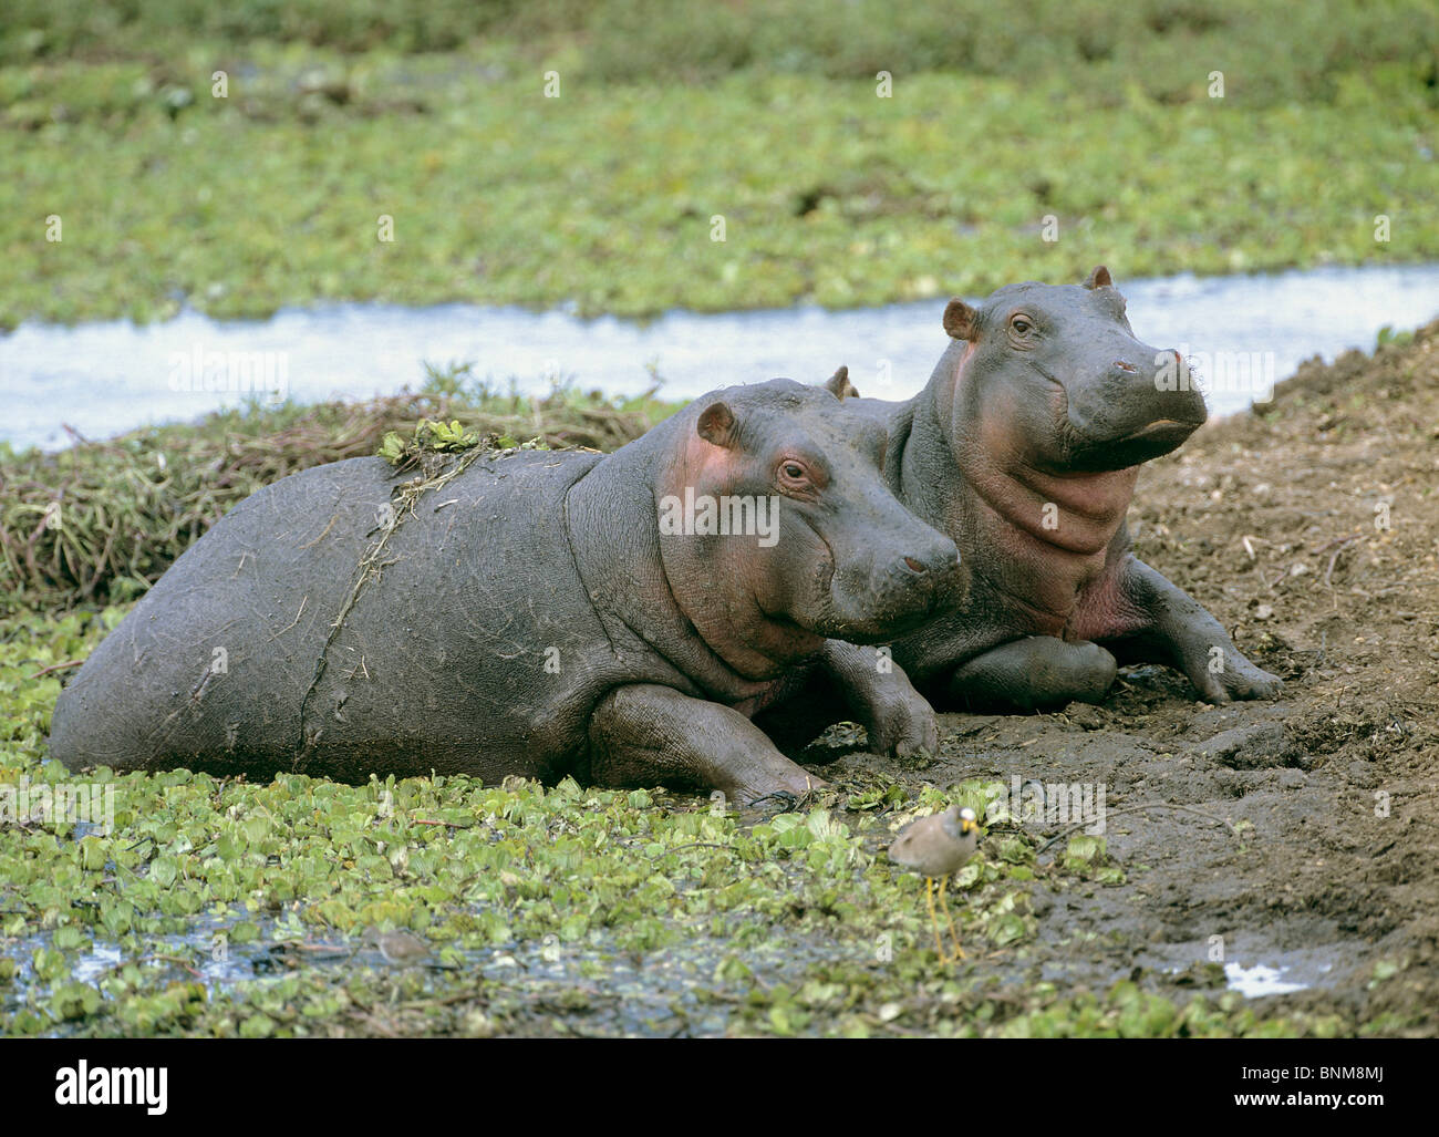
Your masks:
{"label": "green floating water plants in the foreground below the hippos", "polygon": [[[991,828],[951,884],[976,960],[938,966],[922,882],[884,849],[991,782],[904,786],[855,767],[800,810],[741,815],[659,787],[566,779],[187,770],[72,774],[45,750],[65,663],[98,619],[0,619],[0,787],[92,783],[108,825],[0,820],[0,1035],[1337,1032],[1232,993],[1007,983],[1036,889],[1086,889]],[[102,819],[101,819],[102,820]],[[376,933],[430,948],[396,966]],[[1161,977],[1160,977],[1161,979]]]}

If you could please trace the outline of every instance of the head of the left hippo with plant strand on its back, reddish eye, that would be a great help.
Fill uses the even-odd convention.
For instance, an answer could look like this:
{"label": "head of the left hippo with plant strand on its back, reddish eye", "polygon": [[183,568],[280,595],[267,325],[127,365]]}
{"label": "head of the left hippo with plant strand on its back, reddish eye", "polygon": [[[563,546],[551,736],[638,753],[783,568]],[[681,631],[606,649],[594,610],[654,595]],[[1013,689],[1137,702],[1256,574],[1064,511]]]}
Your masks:
{"label": "head of the left hippo with plant strand on its back, reddish eye", "polygon": [[656,492],[661,556],[721,655],[882,643],[958,602],[954,541],[889,492],[885,429],[830,391],[787,379],[728,387],[676,426],[678,461]]}

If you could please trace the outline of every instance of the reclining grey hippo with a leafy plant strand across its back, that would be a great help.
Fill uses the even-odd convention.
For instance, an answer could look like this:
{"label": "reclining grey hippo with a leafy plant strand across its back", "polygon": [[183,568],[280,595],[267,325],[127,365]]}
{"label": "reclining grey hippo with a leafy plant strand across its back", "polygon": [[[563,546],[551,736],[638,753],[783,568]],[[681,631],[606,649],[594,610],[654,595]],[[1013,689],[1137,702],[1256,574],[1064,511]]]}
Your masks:
{"label": "reclining grey hippo with a leafy plant strand across its back", "polygon": [[[612,455],[354,458],[259,489],[62,692],[76,770],[437,773],[718,789],[823,782],[753,720],[826,679],[894,753],[932,711],[872,648],[953,603],[954,541],[886,489],[884,429],[790,380]],[[809,708],[803,708],[809,710]]]}

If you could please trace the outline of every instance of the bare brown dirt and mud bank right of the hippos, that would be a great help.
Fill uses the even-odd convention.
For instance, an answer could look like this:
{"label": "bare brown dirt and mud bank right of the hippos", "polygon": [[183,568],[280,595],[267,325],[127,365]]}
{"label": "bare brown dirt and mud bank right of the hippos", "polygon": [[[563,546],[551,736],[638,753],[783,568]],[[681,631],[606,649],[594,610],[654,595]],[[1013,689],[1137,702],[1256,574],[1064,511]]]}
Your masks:
{"label": "bare brown dirt and mud bank right of the hippos", "polygon": [[1275,1010],[1439,1033],[1436,486],[1439,321],[1305,364],[1259,413],[1154,462],[1130,515],[1137,554],[1281,675],[1281,698],[1212,707],[1132,668],[1101,707],[943,715],[935,764],[891,766],[1107,787],[1127,882],[1036,894],[1013,980],[1212,986],[1222,951],[1307,984]]}

